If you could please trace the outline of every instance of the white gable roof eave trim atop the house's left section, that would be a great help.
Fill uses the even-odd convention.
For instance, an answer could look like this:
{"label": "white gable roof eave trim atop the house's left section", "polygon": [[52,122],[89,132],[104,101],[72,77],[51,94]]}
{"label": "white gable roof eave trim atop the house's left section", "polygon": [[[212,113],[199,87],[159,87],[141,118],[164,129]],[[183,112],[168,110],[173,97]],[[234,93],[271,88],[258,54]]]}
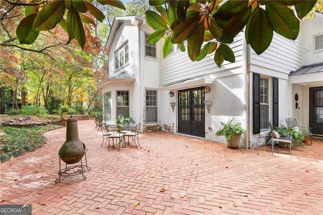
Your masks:
{"label": "white gable roof eave trim atop the house's left section", "polygon": [[107,37],[105,48],[108,50],[110,49],[117,31],[120,29],[123,23],[129,22],[132,25],[138,25],[140,23],[146,22],[145,18],[138,17],[138,16],[122,16],[122,17],[115,17],[112,23],[112,27],[109,33],[109,36]]}

